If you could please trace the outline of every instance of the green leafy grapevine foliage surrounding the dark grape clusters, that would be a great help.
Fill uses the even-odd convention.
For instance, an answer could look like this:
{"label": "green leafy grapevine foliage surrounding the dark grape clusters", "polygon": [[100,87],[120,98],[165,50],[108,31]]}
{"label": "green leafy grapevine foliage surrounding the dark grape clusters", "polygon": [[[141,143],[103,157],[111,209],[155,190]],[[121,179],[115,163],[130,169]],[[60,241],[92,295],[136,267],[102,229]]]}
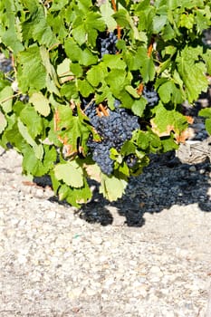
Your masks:
{"label": "green leafy grapevine foliage surrounding the dark grape clusters", "polygon": [[[149,153],[184,140],[188,122],[180,104],[206,91],[211,71],[202,41],[210,8],[210,0],[1,1],[0,49],[14,64],[0,75],[1,146],[9,143],[23,155],[24,174],[50,175],[55,193],[73,206],[91,198],[89,178],[101,183],[104,197],[118,199]],[[118,52],[101,56],[98,36],[107,32],[117,34]],[[148,85],[158,91],[153,106],[142,94]],[[110,111],[118,100],[139,116],[140,129],[120,151],[110,150],[111,176],[92,159],[88,139],[101,137],[82,98]],[[132,168],[129,154],[138,158]]]}

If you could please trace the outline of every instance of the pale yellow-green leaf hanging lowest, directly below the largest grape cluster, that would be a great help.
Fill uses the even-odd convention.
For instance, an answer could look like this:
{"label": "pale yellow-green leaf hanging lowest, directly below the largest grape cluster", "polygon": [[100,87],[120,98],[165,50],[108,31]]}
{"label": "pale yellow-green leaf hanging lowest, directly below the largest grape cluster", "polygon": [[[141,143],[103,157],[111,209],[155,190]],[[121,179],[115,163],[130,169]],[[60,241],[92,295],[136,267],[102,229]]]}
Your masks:
{"label": "pale yellow-green leaf hanging lowest, directly below the largest grape cluster", "polygon": [[115,178],[114,176],[108,177],[102,174],[100,193],[110,201],[114,201],[122,197],[127,184],[124,179]]}

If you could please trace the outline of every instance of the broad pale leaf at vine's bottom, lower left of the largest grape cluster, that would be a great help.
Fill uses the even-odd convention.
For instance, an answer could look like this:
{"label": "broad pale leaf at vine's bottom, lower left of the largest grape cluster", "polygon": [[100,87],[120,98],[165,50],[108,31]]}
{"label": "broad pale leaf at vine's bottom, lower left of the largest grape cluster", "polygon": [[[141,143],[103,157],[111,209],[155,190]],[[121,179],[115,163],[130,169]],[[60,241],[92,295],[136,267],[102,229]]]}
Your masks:
{"label": "broad pale leaf at vine's bottom, lower left of the largest grape cluster", "polygon": [[83,186],[82,168],[75,161],[57,164],[54,168],[55,177],[71,187]]}

